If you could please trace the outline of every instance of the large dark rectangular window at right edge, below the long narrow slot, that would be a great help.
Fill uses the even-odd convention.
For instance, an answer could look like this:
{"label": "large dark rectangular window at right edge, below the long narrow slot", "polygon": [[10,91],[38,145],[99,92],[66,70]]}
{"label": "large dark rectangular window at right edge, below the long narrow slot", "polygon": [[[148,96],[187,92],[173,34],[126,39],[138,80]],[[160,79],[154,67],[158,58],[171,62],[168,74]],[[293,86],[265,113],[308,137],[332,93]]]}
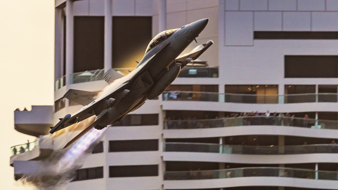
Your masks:
{"label": "large dark rectangular window at right edge, below the long narrow slot", "polygon": [[285,78],[338,78],[338,56],[284,56]]}

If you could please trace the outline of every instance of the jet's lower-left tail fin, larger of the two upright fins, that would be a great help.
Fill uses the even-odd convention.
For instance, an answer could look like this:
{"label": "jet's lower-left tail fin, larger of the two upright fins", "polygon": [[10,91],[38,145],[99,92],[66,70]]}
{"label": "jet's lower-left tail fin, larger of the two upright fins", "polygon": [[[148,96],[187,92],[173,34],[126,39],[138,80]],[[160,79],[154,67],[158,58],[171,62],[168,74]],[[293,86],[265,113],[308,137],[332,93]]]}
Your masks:
{"label": "jet's lower-left tail fin, larger of the two upright fins", "polygon": [[69,89],[64,97],[84,106],[90,104],[97,94],[97,92]]}

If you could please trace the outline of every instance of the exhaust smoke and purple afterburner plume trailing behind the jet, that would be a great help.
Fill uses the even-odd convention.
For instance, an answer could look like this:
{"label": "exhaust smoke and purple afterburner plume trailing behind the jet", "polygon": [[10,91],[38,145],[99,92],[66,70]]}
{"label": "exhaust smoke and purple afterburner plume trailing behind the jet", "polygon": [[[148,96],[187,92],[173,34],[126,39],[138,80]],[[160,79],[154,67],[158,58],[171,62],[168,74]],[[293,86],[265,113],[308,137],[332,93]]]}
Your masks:
{"label": "exhaust smoke and purple afterburner plume trailing behind the jet", "polygon": [[[90,120],[93,120],[93,118]],[[85,122],[82,125],[88,125],[88,121],[83,121]],[[83,128],[82,125],[76,125],[75,127]],[[40,161],[39,172],[26,174],[20,181],[24,185],[33,185],[39,190],[64,189],[66,184],[75,177],[76,170],[81,168],[85,159],[100,142],[106,129],[107,127],[102,130],[93,128],[67,149],[54,150],[49,158]],[[70,126],[70,129],[62,134],[67,135],[66,133],[74,132],[72,130],[74,129]],[[44,135],[40,137],[40,140],[55,138],[58,135],[60,134]]]}

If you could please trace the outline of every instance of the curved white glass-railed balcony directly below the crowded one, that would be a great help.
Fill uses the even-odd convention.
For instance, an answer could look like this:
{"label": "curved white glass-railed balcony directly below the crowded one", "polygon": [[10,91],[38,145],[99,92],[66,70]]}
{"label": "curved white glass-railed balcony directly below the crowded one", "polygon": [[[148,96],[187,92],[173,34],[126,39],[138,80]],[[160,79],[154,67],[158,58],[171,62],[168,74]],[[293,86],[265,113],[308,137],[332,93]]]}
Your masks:
{"label": "curved white glass-railed balcony directly below the crowded one", "polygon": [[[254,164],[335,163],[338,145],[240,146],[206,143],[163,143],[163,161]],[[306,154],[306,155],[305,155]],[[252,156],[254,155],[254,156]]]}

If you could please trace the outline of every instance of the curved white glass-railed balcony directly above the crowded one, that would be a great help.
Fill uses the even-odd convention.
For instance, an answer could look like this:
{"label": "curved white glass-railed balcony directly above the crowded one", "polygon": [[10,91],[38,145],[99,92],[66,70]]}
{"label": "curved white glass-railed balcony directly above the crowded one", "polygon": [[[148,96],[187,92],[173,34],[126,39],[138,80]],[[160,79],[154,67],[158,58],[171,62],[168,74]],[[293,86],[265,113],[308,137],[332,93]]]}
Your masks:
{"label": "curved white glass-railed balcony directly above the crowded one", "polygon": [[[177,97],[177,98],[176,98]],[[337,94],[247,95],[213,92],[171,92],[162,95],[163,110],[251,112],[337,112]],[[184,102],[184,103],[183,103]]]}

